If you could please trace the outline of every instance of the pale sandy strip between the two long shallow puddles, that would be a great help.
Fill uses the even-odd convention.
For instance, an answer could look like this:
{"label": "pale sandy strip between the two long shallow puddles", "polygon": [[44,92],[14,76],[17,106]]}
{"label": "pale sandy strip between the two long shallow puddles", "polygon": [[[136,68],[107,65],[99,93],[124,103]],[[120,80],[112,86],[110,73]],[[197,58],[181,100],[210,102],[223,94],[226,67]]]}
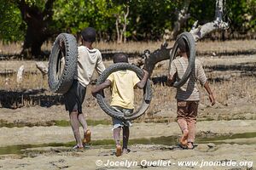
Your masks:
{"label": "pale sandy strip between the two long shallow puddles", "polygon": [[[110,125],[90,127],[92,139],[112,139]],[[82,129],[81,129],[82,130]],[[197,122],[197,132],[247,133],[256,132],[256,120],[232,120]],[[1,127],[0,147],[14,144],[66,143],[73,141],[71,127]],[[176,122],[171,123],[134,123],[131,139],[152,138],[180,134]],[[8,141],[8,142],[7,142]]]}

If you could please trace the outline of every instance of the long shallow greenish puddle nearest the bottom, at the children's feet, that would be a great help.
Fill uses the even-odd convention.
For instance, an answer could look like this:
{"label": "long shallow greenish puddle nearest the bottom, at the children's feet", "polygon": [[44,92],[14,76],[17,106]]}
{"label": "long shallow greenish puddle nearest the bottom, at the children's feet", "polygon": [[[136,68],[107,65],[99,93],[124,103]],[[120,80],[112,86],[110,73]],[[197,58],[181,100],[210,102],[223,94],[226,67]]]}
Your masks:
{"label": "long shallow greenish puddle nearest the bottom, at the children's feet", "polygon": [[[226,139],[250,139],[256,138],[256,132],[253,133],[236,133],[232,135],[224,135],[217,136],[212,138],[197,138],[196,143],[205,144],[205,143],[213,143],[213,144],[225,144],[224,140]],[[167,136],[167,137],[158,137],[158,138],[150,138],[150,139],[131,139],[129,140],[129,144],[165,144],[165,145],[176,145],[178,137],[177,136]],[[91,142],[93,147],[99,147],[109,149],[113,147],[114,142],[113,139],[103,139],[103,140],[94,140]],[[42,148],[42,147],[68,147],[72,148],[75,142],[68,143],[49,143],[49,144],[18,144],[18,145],[10,145],[6,147],[0,147],[0,155],[7,154],[23,154],[26,149],[29,148]],[[39,151],[39,150],[38,150]]]}

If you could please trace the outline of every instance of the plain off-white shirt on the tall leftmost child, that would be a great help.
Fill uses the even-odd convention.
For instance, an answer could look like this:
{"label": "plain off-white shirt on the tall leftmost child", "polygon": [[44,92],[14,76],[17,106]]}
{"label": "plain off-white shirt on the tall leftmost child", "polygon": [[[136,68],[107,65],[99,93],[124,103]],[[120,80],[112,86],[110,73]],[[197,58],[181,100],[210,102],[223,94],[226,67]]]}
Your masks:
{"label": "plain off-white shirt on the tall leftmost child", "polygon": [[100,75],[105,70],[101,52],[96,48],[89,49],[85,46],[79,46],[78,72],[74,79],[79,80],[86,88],[95,69]]}

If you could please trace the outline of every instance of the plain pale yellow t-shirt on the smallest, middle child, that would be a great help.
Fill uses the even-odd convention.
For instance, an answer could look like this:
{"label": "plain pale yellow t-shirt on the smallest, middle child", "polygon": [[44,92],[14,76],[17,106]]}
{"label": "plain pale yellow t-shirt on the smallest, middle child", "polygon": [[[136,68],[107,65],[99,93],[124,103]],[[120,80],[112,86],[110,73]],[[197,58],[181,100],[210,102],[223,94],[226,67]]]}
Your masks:
{"label": "plain pale yellow t-shirt on the smallest, middle child", "polygon": [[134,71],[116,71],[107,78],[111,82],[112,101],[110,105],[134,109],[134,86],[140,79]]}

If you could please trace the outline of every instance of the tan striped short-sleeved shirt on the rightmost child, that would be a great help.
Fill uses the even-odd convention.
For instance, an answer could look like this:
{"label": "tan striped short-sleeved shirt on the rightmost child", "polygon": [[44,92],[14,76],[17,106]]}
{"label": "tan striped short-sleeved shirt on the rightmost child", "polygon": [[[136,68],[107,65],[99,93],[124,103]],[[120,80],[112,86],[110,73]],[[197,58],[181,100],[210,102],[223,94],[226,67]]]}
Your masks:
{"label": "tan striped short-sleeved shirt on the rightmost child", "polygon": [[[170,76],[173,77],[177,72],[177,81],[181,80],[185,71],[187,70],[188,65],[189,59],[187,58],[178,57],[173,59],[170,69]],[[176,99],[185,101],[200,100],[200,94],[196,83],[197,80],[201,83],[201,86],[203,86],[207,82],[207,77],[202,68],[201,62],[198,59],[195,59],[195,69],[188,81],[185,82],[182,87],[177,88]]]}

